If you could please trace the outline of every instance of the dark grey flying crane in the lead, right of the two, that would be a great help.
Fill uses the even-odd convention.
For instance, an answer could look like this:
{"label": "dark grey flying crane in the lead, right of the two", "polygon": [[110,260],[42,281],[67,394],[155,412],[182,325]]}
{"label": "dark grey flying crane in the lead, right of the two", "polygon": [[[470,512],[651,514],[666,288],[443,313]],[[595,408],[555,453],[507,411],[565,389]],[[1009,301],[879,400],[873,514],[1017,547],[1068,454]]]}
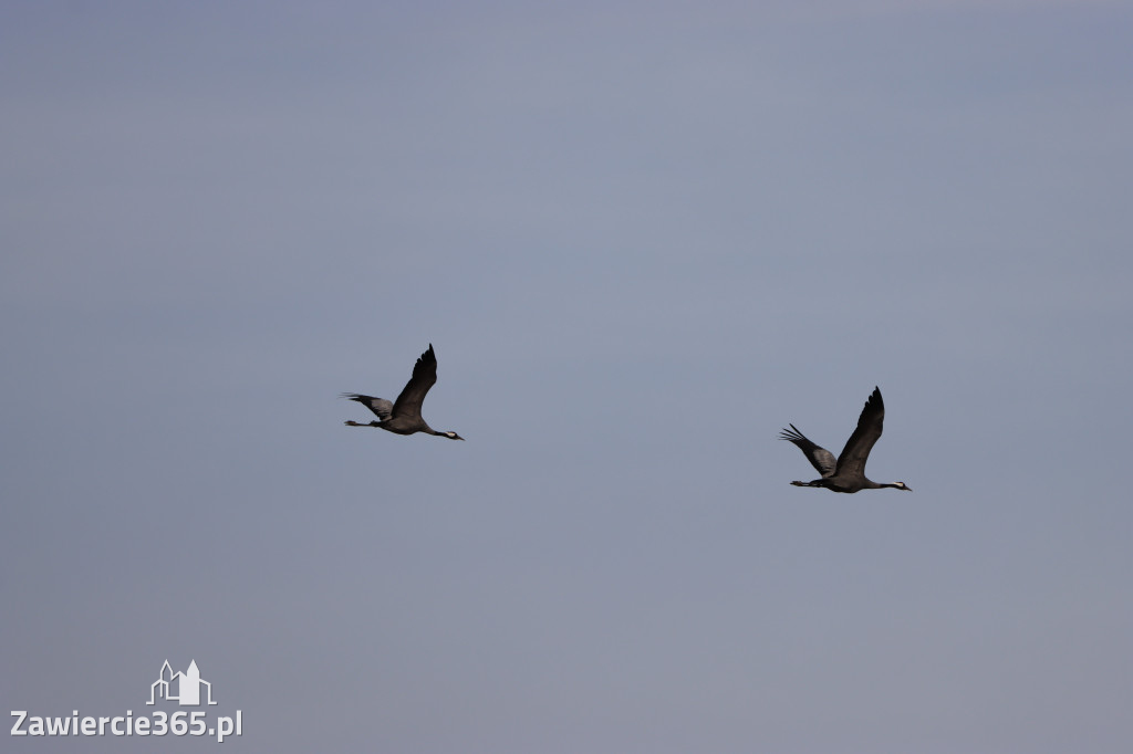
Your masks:
{"label": "dark grey flying crane in the lead, right of the two", "polygon": [[881,401],[881,391],[874,388],[872,395],[866,401],[866,406],[858,418],[858,428],[846,440],[846,446],[842,448],[842,455],[837,459],[825,447],[820,447],[807,439],[806,435],[799,431],[794,425],[791,429],[784,429],[780,439],[794,443],[802,451],[810,465],[815,466],[820,479],[809,482],[793,481],[795,487],[825,487],[835,492],[857,492],[861,489],[880,489],[891,487],[912,491],[904,482],[892,482],[879,485],[866,478],[866,460],[869,452],[874,449],[874,444],[881,436],[881,425],[885,422],[885,403]]}

